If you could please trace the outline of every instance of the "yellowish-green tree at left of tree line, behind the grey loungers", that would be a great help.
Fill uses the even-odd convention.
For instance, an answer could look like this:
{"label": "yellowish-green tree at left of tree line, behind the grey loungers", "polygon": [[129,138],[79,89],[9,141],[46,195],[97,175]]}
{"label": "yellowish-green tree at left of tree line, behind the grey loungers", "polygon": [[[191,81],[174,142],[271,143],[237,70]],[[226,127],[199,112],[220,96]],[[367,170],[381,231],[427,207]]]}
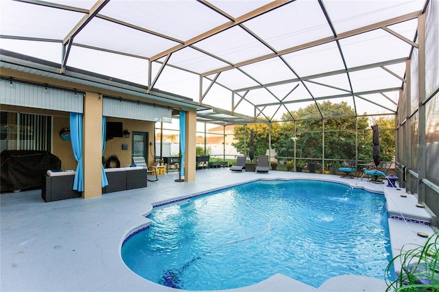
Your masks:
{"label": "yellowish-green tree at left of tree line, behind the grey loungers", "polygon": [[[278,123],[272,123],[272,143],[277,141],[280,128],[281,126]],[[244,125],[235,125],[233,131],[236,142],[232,143],[232,145],[237,149],[238,153],[248,154],[248,140],[251,130],[253,130],[254,135],[254,157],[267,153],[269,125],[265,123],[252,123],[246,127]]]}

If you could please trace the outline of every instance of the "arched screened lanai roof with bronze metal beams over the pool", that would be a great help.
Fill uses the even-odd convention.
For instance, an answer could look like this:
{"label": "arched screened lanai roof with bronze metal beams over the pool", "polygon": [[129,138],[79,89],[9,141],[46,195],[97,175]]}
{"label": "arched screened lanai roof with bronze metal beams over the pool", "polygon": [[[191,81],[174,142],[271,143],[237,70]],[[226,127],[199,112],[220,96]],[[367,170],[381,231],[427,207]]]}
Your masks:
{"label": "arched screened lanai roof with bronze metal beams over the pool", "polygon": [[326,118],[325,100],[394,114],[426,1],[0,5],[1,49],[188,97],[200,121],[246,123],[309,105]]}

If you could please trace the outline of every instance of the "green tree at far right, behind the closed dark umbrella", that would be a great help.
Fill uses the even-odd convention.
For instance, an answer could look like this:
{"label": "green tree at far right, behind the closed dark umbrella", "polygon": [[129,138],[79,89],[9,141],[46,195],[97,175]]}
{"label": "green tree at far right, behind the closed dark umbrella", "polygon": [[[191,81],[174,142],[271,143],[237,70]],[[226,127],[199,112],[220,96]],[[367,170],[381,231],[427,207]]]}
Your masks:
{"label": "green tree at far right, behind the closed dark umbrella", "polygon": [[379,147],[381,161],[393,161],[395,155],[395,118],[377,117],[372,119],[374,125],[379,127]]}

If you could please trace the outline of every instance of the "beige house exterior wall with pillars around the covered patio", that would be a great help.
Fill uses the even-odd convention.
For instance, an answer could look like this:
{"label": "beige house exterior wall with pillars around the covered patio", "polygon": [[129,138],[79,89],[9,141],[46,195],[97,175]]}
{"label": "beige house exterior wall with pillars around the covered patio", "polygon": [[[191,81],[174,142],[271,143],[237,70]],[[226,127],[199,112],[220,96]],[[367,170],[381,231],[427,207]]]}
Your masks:
{"label": "beige house exterior wall with pillars around the covered patio", "polygon": [[[28,82],[35,82],[38,84],[47,84],[48,86],[59,86],[61,88],[70,88],[78,90],[78,92],[85,93],[84,96],[84,141],[83,141],[83,155],[84,155],[84,193],[83,197],[97,197],[102,195],[101,183],[101,165],[102,165],[102,96],[117,95],[123,99],[138,100],[139,97],[134,97],[128,94],[115,93],[112,90],[104,88],[95,88],[90,85],[76,84],[74,82],[66,82],[64,80],[51,79],[49,77],[33,75],[21,71],[14,71],[11,69],[2,69],[2,76],[12,77],[14,80],[23,80]],[[99,99],[100,97],[100,99]],[[147,101],[145,99],[145,101]],[[171,106],[172,104],[165,104],[160,101],[154,101],[158,106]],[[73,151],[70,141],[63,141],[60,138],[60,131],[64,127],[70,127],[69,112],[59,112],[56,110],[45,110],[40,108],[26,108],[21,106],[8,106],[1,104],[1,110],[11,112],[27,112],[34,114],[45,114],[53,117],[52,130],[52,153],[58,156],[62,161],[62,169],[76,169],[77,162],[73,156]],[[179,106],[181,108],[181,106]],[[186,108],[189,121],[187,127],[196,125],[196,112],[193,109]],[[123,129],[128,129],[129,132],[147,132],[148,133],[148,165],[152,165],[154,160],[154,122],[152,121],[138,121],[132,119],[118,119],[108,117],[107,121],[122,121]],[[195,165],[195,130],[193,132],[187,131],[189,136],[187,138],[187,165]],[[104,156],[108,157],[116,154],[121,162],[121,167],[131,165],[132,154],[132,136],[130,138],[113,138],[106,141],[106,149]],[[153,145],[149,145],[150,143]],[[128,144],[128,150],[122,150],[121,145]],[[193,147],[192,147],[193,146]],[[192,153],[193,152],[193,153]],[[193,161],[192,161],[193,160]],[[188,169],[186,181],[195,180],[195,169]]]}

